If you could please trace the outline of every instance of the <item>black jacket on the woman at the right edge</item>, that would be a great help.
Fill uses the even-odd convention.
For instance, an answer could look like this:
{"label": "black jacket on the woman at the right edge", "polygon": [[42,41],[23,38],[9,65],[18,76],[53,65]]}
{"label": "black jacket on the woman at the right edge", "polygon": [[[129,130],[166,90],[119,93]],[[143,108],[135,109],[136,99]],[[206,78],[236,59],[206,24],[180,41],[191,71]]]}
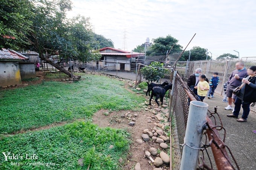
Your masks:
{"label": "black jacket on the woman at the right edge", "polygon": [[256,76],[250,80],[250,84],[245,84],[244,101],[254,103],[256,102]]}

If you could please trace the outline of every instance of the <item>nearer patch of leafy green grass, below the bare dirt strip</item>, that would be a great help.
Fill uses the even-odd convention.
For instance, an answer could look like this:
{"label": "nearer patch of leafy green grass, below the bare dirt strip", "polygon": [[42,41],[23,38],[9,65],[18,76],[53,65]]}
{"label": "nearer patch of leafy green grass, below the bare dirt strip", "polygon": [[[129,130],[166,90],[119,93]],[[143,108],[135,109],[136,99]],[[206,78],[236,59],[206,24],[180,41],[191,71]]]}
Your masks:
{"label": "nearer patch of leafy green grass, below the bare dirt strip", "polygon": [[[129,150],[130,134],[125,130],[99,128],[90,122],[74,122],[42,131],[2,137],[1,152],[23,156],[23,159],[4,161],[0,159],[0,169],[24,170],[119,170],[119,158],[125,160]],[[110,149],[110,145],[113,148]],[[26,154],[36,154],[38,159],[27,160]],[[1,153],[2,154],[2,153]],[[84,158],[84,166],[78,165],[78,159]],[[51,166],[11,165],[11,162],[52,162]]]}

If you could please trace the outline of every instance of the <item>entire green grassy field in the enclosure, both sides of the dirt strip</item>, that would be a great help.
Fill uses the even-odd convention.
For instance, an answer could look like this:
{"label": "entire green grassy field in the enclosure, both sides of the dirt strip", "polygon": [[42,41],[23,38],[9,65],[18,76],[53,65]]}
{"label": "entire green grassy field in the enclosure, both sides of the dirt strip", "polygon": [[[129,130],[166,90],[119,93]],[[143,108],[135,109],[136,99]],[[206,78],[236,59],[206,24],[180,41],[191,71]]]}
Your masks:
{"label": "entire green grassy field in the enclosure, both sides of the dirt strip", "polygon": [[[119,159],[126,160],[130,135],[124,129],[99,128],[90,117],[101,108],[139,110],[144,99],[126,90],[123,84],[108,77],[87,75],[76,83],[44,81],[2,90],[0,150],[6,155],[18,155],[18,159],[5,161],[2,155],[0,169],[73,170],[87,169],[89,165],[91,170],[121,169]],[[81,118],[85,119],[76,120]],[[75,122],[15,134],[63,121]],[[26,154],[38,157],[26,159]],[[84,165],[79,165],[78,160]],[[34,162],[45,165],[33,165]]]}

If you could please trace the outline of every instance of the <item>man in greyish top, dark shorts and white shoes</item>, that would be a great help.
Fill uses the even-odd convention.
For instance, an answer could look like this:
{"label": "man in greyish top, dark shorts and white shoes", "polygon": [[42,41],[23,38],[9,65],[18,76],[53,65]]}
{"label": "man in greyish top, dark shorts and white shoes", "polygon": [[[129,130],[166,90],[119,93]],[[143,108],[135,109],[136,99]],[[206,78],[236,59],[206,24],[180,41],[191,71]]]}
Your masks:
{"label": "man in greyish top, dark shorts and white shoes", "polygon": [[[225,107],[226,110],[233,110],[232,107],[232,102],[235,102],[236,95],[233,94],[233,90],[240,86],[242,79],[247,75],[247,71],[244,67],[243,62],[237,62],[236,65],[236,70],[234,70],[228,80],[227,83],[227,97],[229,101],[229,105]],[[233,112],[233,111],[232,111]]]}

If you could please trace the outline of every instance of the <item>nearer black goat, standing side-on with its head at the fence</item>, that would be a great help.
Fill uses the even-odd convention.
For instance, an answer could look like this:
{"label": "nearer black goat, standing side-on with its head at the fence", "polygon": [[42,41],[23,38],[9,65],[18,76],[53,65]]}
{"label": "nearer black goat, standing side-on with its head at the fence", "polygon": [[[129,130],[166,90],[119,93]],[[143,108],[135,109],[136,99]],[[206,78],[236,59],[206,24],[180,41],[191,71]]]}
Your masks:
{"label": "nearer black goat, standing side-on with its head at the fence", "polygon": [[157,101],[158,98],[160,98],[160,102],[162,102],[163,105],[163,97],[165,96],[165,93],[169,90],[172,89],[172,84],[168,84],[164,87],[161,86],[155,86],[153,87],[150,99],[149,99],[149,105],[151,105],[151,99],[153,98],[153,96],[155,96],[155,102],[157,103],[157,105],[159,106],[159,103]]}

